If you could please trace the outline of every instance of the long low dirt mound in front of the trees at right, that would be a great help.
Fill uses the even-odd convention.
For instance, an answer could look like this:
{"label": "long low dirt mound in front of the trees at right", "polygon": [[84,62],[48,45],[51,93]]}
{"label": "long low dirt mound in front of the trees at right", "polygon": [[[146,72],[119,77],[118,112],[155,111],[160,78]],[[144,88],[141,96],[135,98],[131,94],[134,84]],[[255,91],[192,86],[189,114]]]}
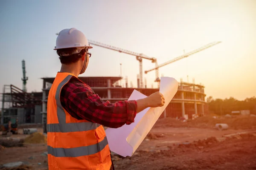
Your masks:
{"label": "long low dirt mound in front of the trees at right", "polygon": [[213,128],[217,123],[226,123],[231,129],[256,129],[256,117],[244,115],[232,117],[223,116],[216,119],[212,116],[204,116],[186,122],[174,118],[158,119],[154,127]]}

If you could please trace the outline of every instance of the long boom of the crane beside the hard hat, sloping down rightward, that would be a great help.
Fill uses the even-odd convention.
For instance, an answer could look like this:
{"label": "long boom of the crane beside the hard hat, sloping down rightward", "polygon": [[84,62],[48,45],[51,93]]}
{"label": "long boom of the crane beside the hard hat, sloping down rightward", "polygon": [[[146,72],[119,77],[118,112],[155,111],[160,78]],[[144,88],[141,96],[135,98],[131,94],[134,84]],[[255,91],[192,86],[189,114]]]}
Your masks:
{"label": "long boom of the crane beside the hard hat, sloping down rightward", "polygon": [[111,50],[114,50],[114,51],[118,51],[120,53],[130,54],[130,55],[133,55],[133,56],[136,56],[136,57],[141,57],[143,59],[149,59],[152,62],[156,60],[156,58],[148,57],[148,56],[146,56],[145,54],[142,54],[142,53],[136,53],[136,52],[133,52],[133,51],[129,51],[129,50],[125,50],[125,49],[122,49],[122,48],[114,47],[112,45],[103,44],[101,42],[96,42],[96,41],[92,41],[92,40],[88,40],[88,42],[90,44],[97,45],[97,46],[103,47],[103,48],[108,48],[108,49],[111,49]]}

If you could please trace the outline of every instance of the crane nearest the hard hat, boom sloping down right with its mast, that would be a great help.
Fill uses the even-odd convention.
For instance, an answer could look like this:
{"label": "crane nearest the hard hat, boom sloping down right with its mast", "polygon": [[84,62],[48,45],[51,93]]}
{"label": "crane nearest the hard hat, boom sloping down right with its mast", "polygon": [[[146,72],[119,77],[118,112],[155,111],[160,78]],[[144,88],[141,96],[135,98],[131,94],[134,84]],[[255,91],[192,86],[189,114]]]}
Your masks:
{"label": "crane nearest the hard hat, boom sloping down right with its mast", "polygon": [[143,88],[143,65],[142,65],[142,59],[148,59],[148,60],[151,60],[151,62],[155,63],[155,67],[157,67],[157,59],[154,58],[154,57],[148,57],[146,56],[145,54],[142,54],[142,53],[136,53],[136,52],[133,52],[133,51],[128,51],[128,50],[125,50],[125,49],[122,49],[122,48],[118,48],[118,47],[114,47],[112,45],[107,45],[107,44],[103,44],[101,42],[96,42],[96,41],[92,41],[92,40],[88,40],[90,44],[92,45],[97,45],[99,47],[103,47],[103,48],[108,48],[108,49],[111,49],[111,50],[114,50],[114,51],[118,51],[120,53],[125,53],[125,54],[130,54],[130,55],[133,55],[133,56],[136,56],[136,59],[139,61],[140,63],[140,87],[138,88]]}

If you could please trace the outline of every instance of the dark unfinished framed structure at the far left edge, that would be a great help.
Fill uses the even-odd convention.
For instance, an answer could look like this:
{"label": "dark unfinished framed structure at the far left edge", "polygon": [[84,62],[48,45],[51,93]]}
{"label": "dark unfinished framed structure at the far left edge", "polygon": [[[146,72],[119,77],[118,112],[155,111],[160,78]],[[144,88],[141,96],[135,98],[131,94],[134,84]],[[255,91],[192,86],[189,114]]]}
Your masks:
{"label": "dark unfinished framed structure at the far left edge", "polygon": [[27,93],[14,85],[4,85],[0,101],[2,102],[0,123],[9,120],[20,124],[42,123],[42,92]]}

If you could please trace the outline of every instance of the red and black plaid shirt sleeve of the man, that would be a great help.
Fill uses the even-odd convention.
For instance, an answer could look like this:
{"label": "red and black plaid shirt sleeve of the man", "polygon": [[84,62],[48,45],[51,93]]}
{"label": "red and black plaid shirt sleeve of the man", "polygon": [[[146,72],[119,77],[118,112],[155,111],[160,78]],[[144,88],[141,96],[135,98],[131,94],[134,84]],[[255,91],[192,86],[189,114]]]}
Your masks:
{"label": "red and black plaid shirt sleeve of the man", "polygon": [[130,125],[137,114],[137,102],[103,102],[86,84],[72,78],[61,90],[61,105],[76,119],[86,119],[106,127]]}

